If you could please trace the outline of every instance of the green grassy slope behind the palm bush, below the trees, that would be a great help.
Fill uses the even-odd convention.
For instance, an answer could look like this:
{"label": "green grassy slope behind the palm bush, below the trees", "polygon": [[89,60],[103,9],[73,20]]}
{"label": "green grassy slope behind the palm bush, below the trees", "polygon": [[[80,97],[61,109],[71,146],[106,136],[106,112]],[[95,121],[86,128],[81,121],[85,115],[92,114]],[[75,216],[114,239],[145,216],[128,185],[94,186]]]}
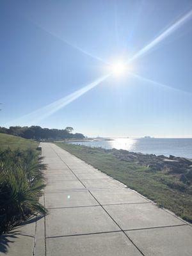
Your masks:
{"label": "green grassy slope behind the palm bush, below the trees", "polygon": [[33,140],[26,140],[17,136],[0,133],[0,150],[6,148],[16,149],[20,148],[26,150],[28,148],[35,149],[38,147],[38,142]]}

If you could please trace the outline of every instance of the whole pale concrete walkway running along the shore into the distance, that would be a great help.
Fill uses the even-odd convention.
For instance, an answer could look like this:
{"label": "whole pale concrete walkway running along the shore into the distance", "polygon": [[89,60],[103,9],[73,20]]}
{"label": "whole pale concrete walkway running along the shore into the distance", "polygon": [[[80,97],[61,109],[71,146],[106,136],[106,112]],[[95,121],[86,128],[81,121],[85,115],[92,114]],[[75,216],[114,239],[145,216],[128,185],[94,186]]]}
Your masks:
{"label": "whole pale concrete walkway running along the shore into the distance", "polygon": [[4,236],[14,242],[8,255],[192,255],[186,222],[54,144],[42,143],[42,154],[49,214]]}

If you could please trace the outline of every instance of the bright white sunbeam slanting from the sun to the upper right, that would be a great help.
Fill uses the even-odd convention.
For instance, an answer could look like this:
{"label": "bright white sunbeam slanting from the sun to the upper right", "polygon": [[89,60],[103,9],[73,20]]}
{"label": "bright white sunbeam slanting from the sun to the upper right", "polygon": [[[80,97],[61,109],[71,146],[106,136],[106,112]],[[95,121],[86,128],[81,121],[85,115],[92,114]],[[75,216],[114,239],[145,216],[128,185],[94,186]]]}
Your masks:
{"label": "bright white sunbeam slanting from the sun to the upper right", "polygon": [[159,44],[161,41],[163,41],[166,37],[171,35],[176,29],[180,28],[184,23],[186,23],[189,19],[192,17],[192,10],[190,10],[186,15],[182,16],[177,22],[175,22],[172,26],[164,30],[163,33],[161,33],[159,36],[157,36],[152,42],[145,45],[140,51],[136,52],[134,56],[132,56],[127,63],[136,60],[137,58],[143,56],[148,51],[150,51],[153,47],[155,47],[157,44]]}

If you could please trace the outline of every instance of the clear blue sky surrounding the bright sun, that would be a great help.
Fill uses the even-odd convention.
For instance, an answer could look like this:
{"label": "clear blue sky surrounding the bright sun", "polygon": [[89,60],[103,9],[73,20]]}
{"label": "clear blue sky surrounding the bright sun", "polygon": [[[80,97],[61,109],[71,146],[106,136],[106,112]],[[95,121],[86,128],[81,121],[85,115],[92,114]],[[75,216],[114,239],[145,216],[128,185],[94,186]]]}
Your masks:
{"label": "clear blue sky surrounding the bright sun", "polygon": [[[1,0],[0,125],[192,137],[191,10],[191,0]],[[118,61],[123,74],[105,77]]]}

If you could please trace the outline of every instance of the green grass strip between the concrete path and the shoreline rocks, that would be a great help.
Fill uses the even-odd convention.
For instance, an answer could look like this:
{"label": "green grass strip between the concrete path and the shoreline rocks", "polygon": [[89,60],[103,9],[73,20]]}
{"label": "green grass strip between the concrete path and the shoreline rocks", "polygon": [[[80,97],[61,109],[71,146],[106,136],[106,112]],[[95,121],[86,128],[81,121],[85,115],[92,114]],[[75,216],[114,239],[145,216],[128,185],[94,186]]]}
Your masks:
{"label": "green grass strip between the concrete path and the shoreline rocks", "polygon": [[191,186],[184,189],[172,175],[163,172],[152,172],[145,166],[122,161],[113,154],[103,152],[100,148],[83,147],[63,142],[58,142],[56,145],[86,163],[92,164],[95,168],[119,180],[127,187],[147,196],[147,198],[156,202],[159,207],[165,207],[192,223]]}

